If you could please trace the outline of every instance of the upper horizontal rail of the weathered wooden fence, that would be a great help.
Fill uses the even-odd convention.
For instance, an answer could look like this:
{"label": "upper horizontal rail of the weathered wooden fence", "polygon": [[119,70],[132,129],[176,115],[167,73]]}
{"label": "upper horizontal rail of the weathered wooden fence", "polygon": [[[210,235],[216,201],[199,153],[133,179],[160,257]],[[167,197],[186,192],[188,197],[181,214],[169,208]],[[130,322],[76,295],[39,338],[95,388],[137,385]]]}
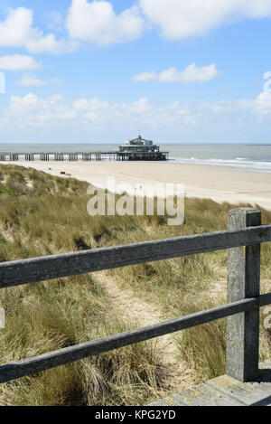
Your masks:
{"label": "upper horizontal rail of the weathered wooden fence", "polygon": [[0,288],[20,286],[53,278],[70,277],[105,269],[127,267],[163,259],[251,246],[271,240],[271,225],[112,248],[84,250],[0,264]]}

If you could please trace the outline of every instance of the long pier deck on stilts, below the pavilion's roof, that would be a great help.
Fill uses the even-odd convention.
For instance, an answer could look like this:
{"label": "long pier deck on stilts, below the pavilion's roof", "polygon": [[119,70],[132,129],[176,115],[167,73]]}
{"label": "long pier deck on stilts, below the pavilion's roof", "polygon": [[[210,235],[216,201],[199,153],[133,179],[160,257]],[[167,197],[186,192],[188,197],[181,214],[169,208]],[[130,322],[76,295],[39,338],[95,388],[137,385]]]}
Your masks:
{"label": "long pier deck on stilts, below the pavilion's roof", "polygon": [[38,152],[0,153],[0,162],[167,161],[169,152]]}

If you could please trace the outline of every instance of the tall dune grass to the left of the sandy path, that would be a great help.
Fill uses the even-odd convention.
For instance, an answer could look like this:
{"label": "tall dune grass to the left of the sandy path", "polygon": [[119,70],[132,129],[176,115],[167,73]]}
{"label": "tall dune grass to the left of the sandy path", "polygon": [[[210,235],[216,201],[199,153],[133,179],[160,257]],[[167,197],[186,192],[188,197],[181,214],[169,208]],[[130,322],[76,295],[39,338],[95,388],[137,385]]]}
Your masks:
{"label": "tall dune grass to the left of the sandy path", "polygon": [[[87,184],[15,166],[0,168],[2,261],[95,248],[119,231],[119,223],[89,217]],[[6,313],[2,364],[139,325],[114,316],[107,292],[90,276],[2,289],[0,305]],[[2,384],[0,404],[142,404],[163,386],[165,374],[155,343],[135,344]]]}

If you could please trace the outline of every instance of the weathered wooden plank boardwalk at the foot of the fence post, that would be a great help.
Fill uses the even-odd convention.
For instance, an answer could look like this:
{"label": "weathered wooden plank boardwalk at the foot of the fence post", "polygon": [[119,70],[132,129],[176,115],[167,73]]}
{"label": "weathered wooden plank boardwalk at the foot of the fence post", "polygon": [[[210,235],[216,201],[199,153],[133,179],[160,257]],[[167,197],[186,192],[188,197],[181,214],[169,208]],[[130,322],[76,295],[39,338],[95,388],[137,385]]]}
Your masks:
{"label": "weathered wooden plank boardwalk at the foot of the fence post", "polygon": [[238,382],[223,375],[152,406],[271,406],[271,361],[260,364],[258,382]]}

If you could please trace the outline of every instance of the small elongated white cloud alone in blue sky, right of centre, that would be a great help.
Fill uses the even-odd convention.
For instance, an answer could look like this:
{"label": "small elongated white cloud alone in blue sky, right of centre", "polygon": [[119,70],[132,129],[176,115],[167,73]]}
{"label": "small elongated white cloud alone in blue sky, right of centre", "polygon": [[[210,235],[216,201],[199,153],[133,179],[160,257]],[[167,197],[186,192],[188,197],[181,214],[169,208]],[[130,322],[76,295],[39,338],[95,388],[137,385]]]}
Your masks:
{"label": "small elongated white cloud alone in blue sky, right of centre", "polygon": [[208,66],[197,67],[195,63],[189,65],[184,71],[169,68],[160,73],[143,72],[134,76],[135,81],[161,81],[161,82],[204,82],[213,80],[221,75],[217,65],[212,63]]}

